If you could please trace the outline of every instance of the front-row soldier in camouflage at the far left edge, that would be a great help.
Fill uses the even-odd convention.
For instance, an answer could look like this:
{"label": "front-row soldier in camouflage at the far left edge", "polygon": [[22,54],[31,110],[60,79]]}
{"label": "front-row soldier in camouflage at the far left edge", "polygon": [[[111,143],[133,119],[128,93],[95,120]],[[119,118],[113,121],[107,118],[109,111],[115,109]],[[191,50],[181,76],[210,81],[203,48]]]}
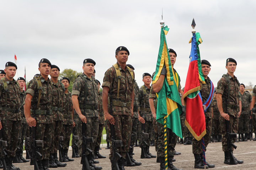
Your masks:
{"label": "front-row soldier in camouflage at the far left edge", "polygon": [[0,129],[2,129],[2,140],[7,141],[5,160],[8,170],[20,170],[12,165],[21,127],[21,91],[18,83],[13,79],[16,70],[15,63],[7,62],[4,70],[6,75],[0,80]]}

